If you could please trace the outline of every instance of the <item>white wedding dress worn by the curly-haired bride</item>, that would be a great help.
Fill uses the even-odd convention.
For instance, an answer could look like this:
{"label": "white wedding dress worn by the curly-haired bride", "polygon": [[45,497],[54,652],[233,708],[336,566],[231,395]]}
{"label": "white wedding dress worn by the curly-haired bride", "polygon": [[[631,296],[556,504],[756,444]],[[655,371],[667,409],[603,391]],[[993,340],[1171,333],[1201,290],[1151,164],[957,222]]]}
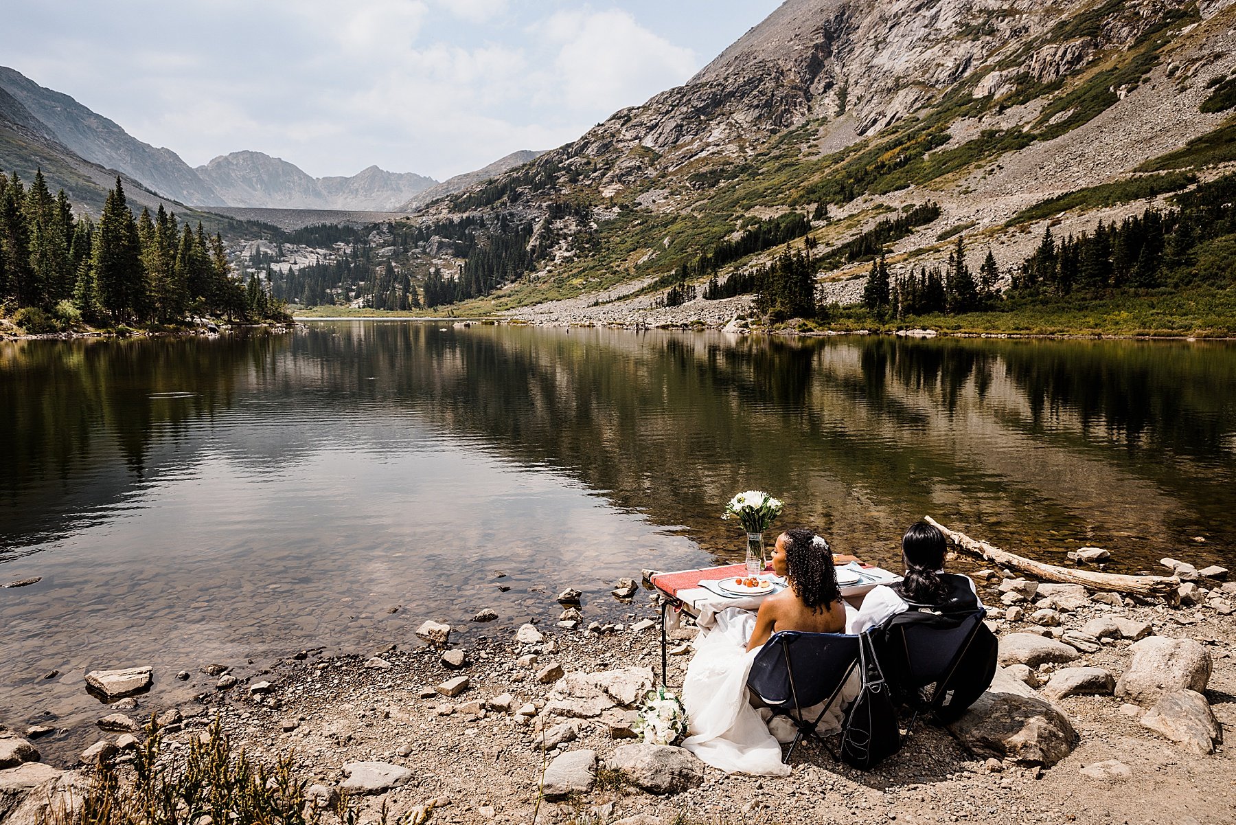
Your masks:
{"label": "white wedding dress worn by the curly-haired bride", "polygon": [[[765,721],[771,711],[756,710],[748,701],[747,675],[760,648],[747,652],[755,628],[755,613],[730,607],[716,616],[716,623],[700,632],[696,654],[682,683],[682,705],[687,711],[688,736],[682,747],[702,762],[726,773],[785,777],[790,766],[781,762],[781,743],[794,740],[795,729],[785,717]],[[845,683],[836,703],[816,730],[840,727],[843,709],[858,695],[858,673]],[[813,712],[812,712],[813,711]],[[807,717],[819,705],[807,709]],[[774,735],[774,732],[776,735]]]}

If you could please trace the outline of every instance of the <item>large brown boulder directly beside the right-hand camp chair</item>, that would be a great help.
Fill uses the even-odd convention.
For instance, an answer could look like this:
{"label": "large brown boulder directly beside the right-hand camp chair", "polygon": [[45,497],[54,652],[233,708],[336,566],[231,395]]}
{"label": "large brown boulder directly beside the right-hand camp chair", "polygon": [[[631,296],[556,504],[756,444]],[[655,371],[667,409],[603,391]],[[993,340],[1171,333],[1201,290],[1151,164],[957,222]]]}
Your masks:
{"label": "large brown boulder directly beside the right-hand camp chair", "polygon": [[1004,668],[949,730],[976,754],[1031,764],[1056,764],[1078,741],[1063,710]]}

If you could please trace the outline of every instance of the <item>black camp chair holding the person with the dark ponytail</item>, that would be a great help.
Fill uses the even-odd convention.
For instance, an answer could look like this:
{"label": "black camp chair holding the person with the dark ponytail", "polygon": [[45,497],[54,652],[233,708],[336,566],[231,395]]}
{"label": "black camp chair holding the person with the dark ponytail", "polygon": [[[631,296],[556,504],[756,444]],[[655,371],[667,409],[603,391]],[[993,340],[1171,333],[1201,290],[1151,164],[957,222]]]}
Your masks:
{"label": "black camp chair holding the person with the dark ponytail", "polygon": [[876,656],[897,699],[920,716],[950,722],[991,685],[996,639],[983,623],[984,609],[937,613],[911,607],[884,622]]}

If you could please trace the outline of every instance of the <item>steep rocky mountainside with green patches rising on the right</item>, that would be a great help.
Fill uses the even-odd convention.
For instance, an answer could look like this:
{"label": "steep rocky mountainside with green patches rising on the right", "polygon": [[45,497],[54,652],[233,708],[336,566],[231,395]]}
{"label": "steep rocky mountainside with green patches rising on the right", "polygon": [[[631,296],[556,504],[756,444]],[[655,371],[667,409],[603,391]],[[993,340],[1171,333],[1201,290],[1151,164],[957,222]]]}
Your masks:
{"label": "steep rocky mountainside with green patches rising on the right", "polygon": [[[1204,103],[1236,77],[1234,26],[1232,0],[787,0],[687,84],[421,220],[482,218],[494,249],[503,226],[533,228],[530,275],[499,307],[724,278],[772,255],[723,249],[763,220],[810,218],[827,251],[928,202],[937,218],[874,247],[891,250],[894,276],[964,235],[971,267],[990,249],[1007,278],[1046,223],[1030,207],[1125,193],[1079,194],[1083,208],[1051,215],[1063,236],[1161,203],[1124,183],[1172,152],[1203,179],[1230,168],[1232,109]],[[815,260],[824,281],[870,268]]]}

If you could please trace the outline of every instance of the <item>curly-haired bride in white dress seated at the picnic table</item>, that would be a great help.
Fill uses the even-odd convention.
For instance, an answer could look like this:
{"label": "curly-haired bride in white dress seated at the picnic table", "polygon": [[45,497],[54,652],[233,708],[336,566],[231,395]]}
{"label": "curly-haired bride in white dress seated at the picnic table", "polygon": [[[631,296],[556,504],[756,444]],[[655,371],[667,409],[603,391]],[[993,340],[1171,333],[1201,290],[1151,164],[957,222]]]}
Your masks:
{"label": "curly-haired bride in white dress seated at the picnic table", "polygon": [[[786,531],[776,539],[772,570],[790,586],[765,599],[758,615],[735,607],[717,613],[716,623],[696,639],[696,654],[682,683],[690,724],[682,747],[727,773],[790,773],[790,766],[781,762],[779,738],[791,741],[794,726],[777,717],[770,732],[765,720],[771,711],[758,710],[749,701],[747,675],[760,647],[776,631],[845,630],[845,605],[823,538],[806,529]],[[839,727],[842,707],[858,694],[855,677],[847,682],[840,701],[821,720],[818,730]],[[819,712],[818,705],[815,712]]]}

